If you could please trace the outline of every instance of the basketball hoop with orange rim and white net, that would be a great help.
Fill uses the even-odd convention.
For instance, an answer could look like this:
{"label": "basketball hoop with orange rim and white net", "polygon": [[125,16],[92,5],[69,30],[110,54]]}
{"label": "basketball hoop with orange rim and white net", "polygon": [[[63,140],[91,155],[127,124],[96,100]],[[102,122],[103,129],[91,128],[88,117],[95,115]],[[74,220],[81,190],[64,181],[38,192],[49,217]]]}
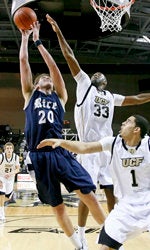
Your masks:
{"label": "basketball hoop with orange rim and white net", "polygon": [[121,31],[122,17],[126,14],[130,17],[130,8],[134,2],[135,0],[90,0],[91,6],[101,19],[102,32]]}

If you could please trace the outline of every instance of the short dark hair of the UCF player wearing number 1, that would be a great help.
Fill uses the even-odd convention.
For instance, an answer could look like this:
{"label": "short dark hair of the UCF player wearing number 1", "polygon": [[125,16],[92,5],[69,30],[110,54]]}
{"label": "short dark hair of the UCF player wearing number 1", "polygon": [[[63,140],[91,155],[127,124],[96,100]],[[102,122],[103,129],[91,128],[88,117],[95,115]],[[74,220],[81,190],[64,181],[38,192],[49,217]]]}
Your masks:
{"label": "short dark hair of the UCF player wearing number 1", "polygon": [[146,134],[149,134],[150,131],[150,124],[148,120],[141,116],[141,115],[133,115],[135,117],[135,124],[136,126],[140,127],[141,129],[141,137],[144,138]]}

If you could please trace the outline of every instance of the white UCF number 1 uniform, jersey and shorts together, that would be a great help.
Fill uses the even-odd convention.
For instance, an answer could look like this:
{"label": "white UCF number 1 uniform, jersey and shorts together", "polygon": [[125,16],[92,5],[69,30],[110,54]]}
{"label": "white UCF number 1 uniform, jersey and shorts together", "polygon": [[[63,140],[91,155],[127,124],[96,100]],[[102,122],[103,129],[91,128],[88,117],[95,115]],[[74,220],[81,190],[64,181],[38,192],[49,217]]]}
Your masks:
{"label": "white UCF number 1 uniform, jersey and shorts together", "polygon": [[150,138],[137,147],[127,147],[120,136],[100,140],[103,150],[112,152],[110,164],[118,202],[105,220],[105,231],[124,243],[150,231]]}

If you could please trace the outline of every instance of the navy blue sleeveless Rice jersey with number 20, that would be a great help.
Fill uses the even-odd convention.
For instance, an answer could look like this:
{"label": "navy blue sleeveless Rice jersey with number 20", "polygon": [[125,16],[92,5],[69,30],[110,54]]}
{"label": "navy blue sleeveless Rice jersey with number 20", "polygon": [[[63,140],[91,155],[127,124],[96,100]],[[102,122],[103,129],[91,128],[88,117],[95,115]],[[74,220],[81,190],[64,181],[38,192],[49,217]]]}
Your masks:
{"label": "navy blue sleeveless Rice jersey with number 20", "polygon": [[29,151],[36,151],[39,142],[46,138],[62,138],[64,109],[55,92],[47,95],[35,90],[25,108],[25,115],[25,138]]}

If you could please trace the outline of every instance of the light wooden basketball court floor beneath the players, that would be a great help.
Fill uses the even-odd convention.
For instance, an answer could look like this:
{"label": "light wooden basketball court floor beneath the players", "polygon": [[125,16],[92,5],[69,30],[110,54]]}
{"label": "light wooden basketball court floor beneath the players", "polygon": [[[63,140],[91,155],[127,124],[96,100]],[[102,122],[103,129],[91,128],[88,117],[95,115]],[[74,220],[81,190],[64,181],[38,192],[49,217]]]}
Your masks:
{"label": "light wooden basketball court floor beneath the players", "polygon": [[[102,206],[107,211],[103,194],[97,194]],[[78,198],[75,194],[64,193],[64,202],[68,214],[77,227]],[[37,196],[32,191],[16,192],[15,203],[5,207],[6,222],[0,224],[0,250],[73,250],[74,246],[62,232],[56,222],[51,208],[37,202]],[[89,250],[100,248],[96,244],[99,226],[88,217],[86,238]],[[143,233],[124,245],[125,250],[150,249],[150,234]]]}

